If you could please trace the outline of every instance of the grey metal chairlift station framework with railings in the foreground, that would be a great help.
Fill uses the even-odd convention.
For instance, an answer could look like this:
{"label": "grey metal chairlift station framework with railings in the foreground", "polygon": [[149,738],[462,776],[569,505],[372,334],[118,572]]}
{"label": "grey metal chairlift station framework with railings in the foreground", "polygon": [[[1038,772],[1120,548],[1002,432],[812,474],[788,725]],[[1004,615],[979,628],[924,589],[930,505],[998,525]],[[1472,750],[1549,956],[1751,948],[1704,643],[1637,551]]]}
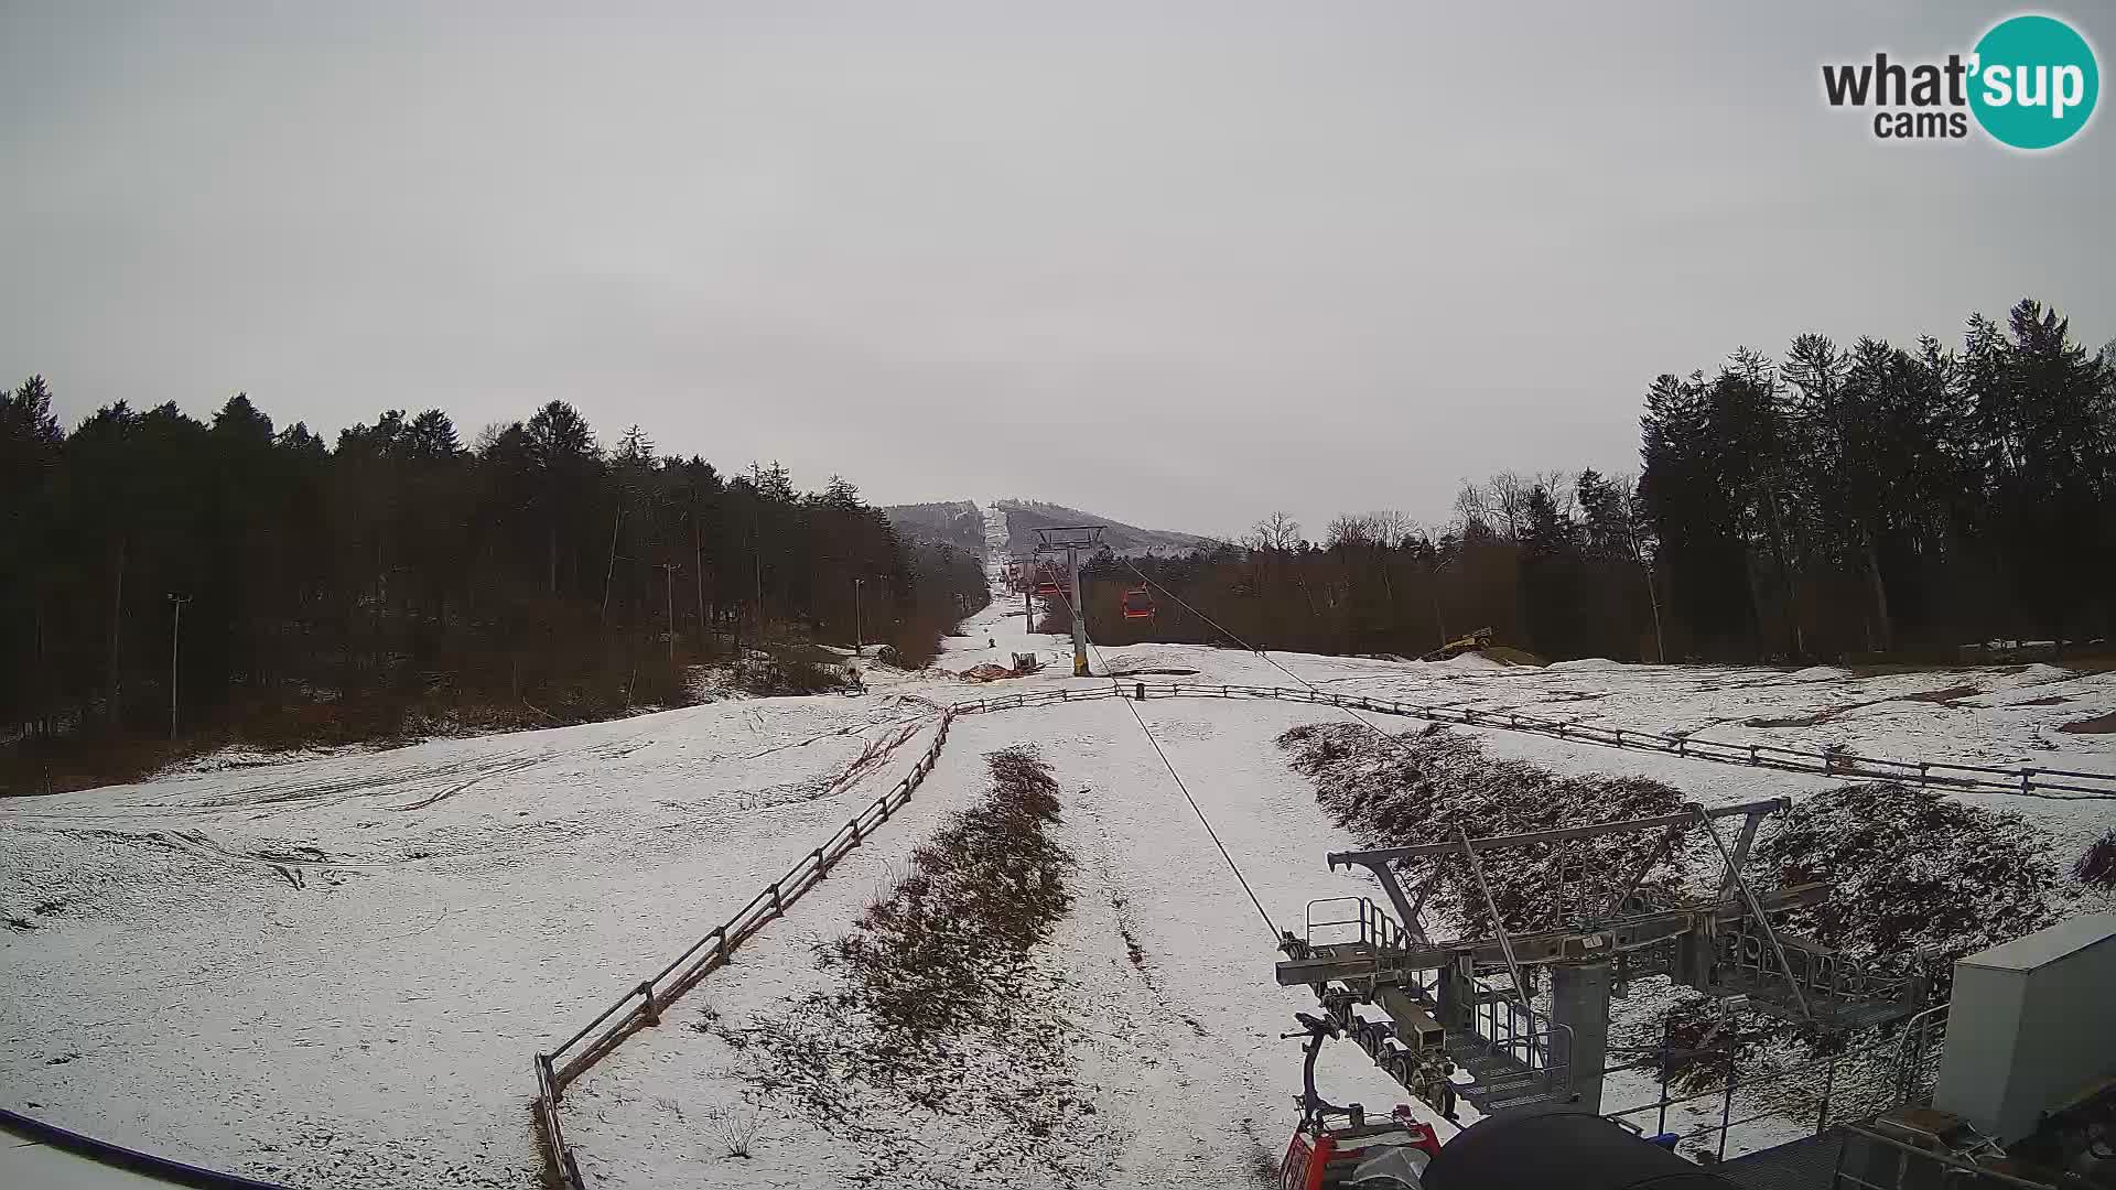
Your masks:
{"label": "grey metal chairlift station framework with railings in the foreground", "polygon": [[[1375,851],[1333,851],[1331,868],[1365,868],[1390,910],[1367,898],[1310,902],[1308,938],[1280,940],[1280,987],[1306,985],[1339,1033],[1354,1040],[1397,1082],[1452,1114],[1456,1097],[1479,1112],[1600,1112],[1608,1048],[1608,1008],[1623,985],[1667,976],[1708,995],[1822,1029],[1854,1029],[1911,1016],[1926,1008],[1921,974],[1881,976],[1860,970],[1820,942],[1786,934],[1773,917],[1818,904],[1818,883],[1758,891],[1744,875],[1763,817],[1784,798],[1716,807],[1686,805],[1680,813],[1568,826],[1526,834],[1471,839]],[[1741,817],[1729,847],[1714,826]],[[1722,870],[1716,896],[1676,900],[1648,889],[1653,870],[1689,830],[1712,836]],[[1608,900],[1591,898],[1585,864],[1559,858],[1559,887],[1538,904],[1534,927],[1509,930],[1492,894],[1488,866],[1502,853],[1536,845],[1579,845],[1617,834],[1659,839],[1623,872]],[[1399,879],[1403,864],[1428,862],[1416,898]],[[1422,910],[1441,866],[1462,862],[1481,921],[1469,938],[1435,942]],[[1350,906],[1344,917],[1316,919],[1318,906]],[[1325,910],[1335,913],[1335,910]],[[1325,938],[1318,938],[1318,930]],[[1549,1010],[1534,1006],[1534,972],[1551,970]],[[1361,1006],[1380,1008],[1363,1016]],[[1460,1084],[1458,1076],[1471,1078]]]}

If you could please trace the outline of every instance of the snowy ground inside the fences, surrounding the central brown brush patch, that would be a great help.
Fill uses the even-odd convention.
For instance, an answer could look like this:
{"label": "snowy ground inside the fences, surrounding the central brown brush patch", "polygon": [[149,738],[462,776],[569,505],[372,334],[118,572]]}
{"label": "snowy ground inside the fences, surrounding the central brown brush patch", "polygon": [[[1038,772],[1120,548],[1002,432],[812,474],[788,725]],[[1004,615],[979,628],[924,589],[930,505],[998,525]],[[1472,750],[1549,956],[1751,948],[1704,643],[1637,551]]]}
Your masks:
{"label": "snowy ground inside the fences, surrounding the central brown brush patch", "polygon": [[[1280,925],[1299,927],[1310,898],[1346,891],[1346,881],[1325,872],[1320,858],[1350,843],[1314,813],[1310,794],[1272,745],[1274,735],[1312,711],[1248,707],[1229,726],[1223,709],[1149,703],[1147,722],[1265,910]],[[1045,1076],[1083,1095],[1100,1126],[1050,1143],[1081,1146],[1081,1156],[1111,1171],[1113,1186],[1253,1184],[1257,1160],[1276,1158],[1299,1090],[1297,1042],[1278,1033],[1293,1027],[1297,1008],[1314,1008],[1312,997],[1272,980],[1274,934],[1124,705],[961,718],[937,786],[927,788],[940,788],[937,796],[950,803],[965,800],[982,781],[980,756],[1011,743],[1039,745],[1071,794],[1058,839],[1079,860],[1077,902],[1050,959],[1060,997],[1054,1027],[1075,1038],[1075,1061]],[[717,972],[696,1004],[673,1018],[698,1021],[711,1012],[722,1029],[741,1029],[787,997],[827,987],[832,976],[817,970],[813,944],[842,932],[916,843],[908,832],[891,841],[863,849],[855,870],[810,894],[796,910],[800,925],[787,923],[783,944],[774,938]],[[1369,1105],[1405,1099],[1354,1050],[1337,1048],[1331,1057],[1342,1063],[1335,1095]],[[595,1067],[565,1101],[567,1135],[590,1179],[637,1188],[815,1186],[868,1169],[857,1143],[785,1116],[783,1103],[751,1086],[745,1059],[717,1035],[664,1025]],[[722,1158],[709,1135],[681,1124],[751,1107],[764,1114],[753,1160]],[[931,1133],[908,1143],[950,1154],[948,1131],[959,1126],[975,1124],[933,1118]],[[935,1162],[933,1173],[946,1167]],[[1020,1182],[999,1171],[961,1184]]]}

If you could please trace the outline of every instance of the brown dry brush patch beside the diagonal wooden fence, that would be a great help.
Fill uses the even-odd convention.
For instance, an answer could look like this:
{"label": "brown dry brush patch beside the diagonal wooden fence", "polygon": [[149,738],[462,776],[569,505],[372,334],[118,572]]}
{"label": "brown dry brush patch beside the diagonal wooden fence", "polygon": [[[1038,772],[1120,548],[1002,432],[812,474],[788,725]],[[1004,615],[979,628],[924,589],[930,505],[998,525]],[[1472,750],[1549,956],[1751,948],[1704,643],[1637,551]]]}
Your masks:
{"label": "brown dry brush patch beside the diagonal wooden fence", "polygon": [[743,1052],[762,1099],[851,1139],[863,1182],[1098,1186],[1121,1135],[1075,1082],[1086,1033],[1043,955],[1073,906],[1058,783],[1030,747],[986,760],[984,798],[819,949],[836,989],[692,1027]]}

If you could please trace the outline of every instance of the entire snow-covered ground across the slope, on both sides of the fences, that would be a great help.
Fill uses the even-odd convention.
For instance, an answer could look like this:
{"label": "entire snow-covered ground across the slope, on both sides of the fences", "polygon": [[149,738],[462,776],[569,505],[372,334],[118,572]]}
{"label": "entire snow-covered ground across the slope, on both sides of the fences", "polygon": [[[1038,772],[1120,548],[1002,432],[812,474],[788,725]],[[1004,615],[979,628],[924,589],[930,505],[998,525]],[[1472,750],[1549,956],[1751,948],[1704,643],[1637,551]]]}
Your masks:
{"label": "entire snow-covered ground across the slope, on both sides of the fences", "polygon": [[[1005,551],[1003,523],[988,544]],[[0,919],[19,923],[0,927],[0,1103],[296,1186],[533,1186],[533,1050],[660,968],[901,775],[937,703],[1075,682],[1069,644],[1028,633],[1018,597],[963,631],[946,671],[1030,650],[1050,665],[992,686],[874,671],[857,699],[728,701],[0,803]],[[1477,659],[1265,661],[1202,646],[1128,646],[1096,661],[1198,669],[1189,682],[1297,684],[1276,661],[1322,688],[1394,699],[2116,773],[2116,737],[2057,731],[2116,709],[2116,675],[2048,667],[1538,671]],[[1325,870],[1322,853],[1352,841],[1272,745],[1331,711],[1215,699],[1136,709],[1278,927],[1299,930],[1312,898],[1363,891]],[[906,722],[925,726],[855,781],[838,779]],[[1500,756],[1653,775],[1705,803],[1830,783],[1481,735]],[[912,847],[978,798],[982,756],[1011,743],[1039,745],[1054,767],[1066,792],[1058,841],[1079,864],[1073,913],[1041,957],[1056,1054],[1043,1074],[1090,1103],[1096,1124],[1047,1146],[1111,1171],[1115,1186],[1236,1186],[1276,1158],[1299,1069],[1297,1044],[1278,1033],[1306,993],[1272,980],[1265,923],[1132,707],[1098,701],[956,720],[906,813],[660,1029],[573,1084],[565,1124],[592,1184],[815,1186],[876,1169],[899,1182],[1022,1184],[1007,1179],[1020,1171],[948,1165],[956,1131],[990,1120],[906,1116],[899,1137],[855,1139],[774,1099],[726,1042],[743,1021],[829,991],[817,944],[887,894]],[[2067,862],[2116,826],[2105,800],[1966,796],[2044,824]],[[1335,1050],[1331,1095],[1403,1099],[1350,1048]],[[726,1156],[715,1135],[749,1116],[751,1156]]]}

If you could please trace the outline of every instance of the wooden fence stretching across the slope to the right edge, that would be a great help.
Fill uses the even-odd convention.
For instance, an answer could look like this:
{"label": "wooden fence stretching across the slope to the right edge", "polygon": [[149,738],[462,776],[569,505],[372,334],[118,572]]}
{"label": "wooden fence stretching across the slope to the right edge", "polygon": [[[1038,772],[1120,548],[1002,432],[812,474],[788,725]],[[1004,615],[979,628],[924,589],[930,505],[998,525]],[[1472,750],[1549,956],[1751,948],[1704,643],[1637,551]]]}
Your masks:
{"label": "wooden fence stretching across the slope to the right edge", "polygon": [[1951,760],[1894,760],[1887,756],[1860,756],[1837,747],[1784,747],[1777,743],[1725,743],[1716,739],[1693,739],[1689,735],[1634,731],[1623,726],[1600,726],[1568,720],[1524,716],[1519,711],[1488,711],[1477,707],[1445,707],[1433,703],[1405,703],[1401,699],[1378,699],[1369,695],[1344,695],[1333,690],[1303,690],[1295,686],[1255,684],[1208,684],[1208,682],[1121,682],[1073,690],[1024,690],[1020,695],[999,695],[986,699],[965,699],[959,711],[1003,711],[1016,707],[1047,707],[1054,703],[1090,703],[1098,699],[1270,699],[1280,703],[1310,703],[1318,707],[1344,707],[1382,716],[1407,716],[1428,722],[1458,726],[1479,726],[1494,731],[1519,731],[1589,743],[1598,747],[1623,747],[1638,752],[1663,752],[1689,760],[1714,760],[1720,764],[1746,764],[1750,769],[1777,769],[1786,773],[1818,773],[1824,777],[1852,777],[1868,781],[1904,781],[1915,786],[1938,786],[1951,790],[2025,794],[2072,800],[2080,796],[2116,798],[2116,773],[2082,773],[2078,769],[2044,767],[1998,767],[1959,764]]}

